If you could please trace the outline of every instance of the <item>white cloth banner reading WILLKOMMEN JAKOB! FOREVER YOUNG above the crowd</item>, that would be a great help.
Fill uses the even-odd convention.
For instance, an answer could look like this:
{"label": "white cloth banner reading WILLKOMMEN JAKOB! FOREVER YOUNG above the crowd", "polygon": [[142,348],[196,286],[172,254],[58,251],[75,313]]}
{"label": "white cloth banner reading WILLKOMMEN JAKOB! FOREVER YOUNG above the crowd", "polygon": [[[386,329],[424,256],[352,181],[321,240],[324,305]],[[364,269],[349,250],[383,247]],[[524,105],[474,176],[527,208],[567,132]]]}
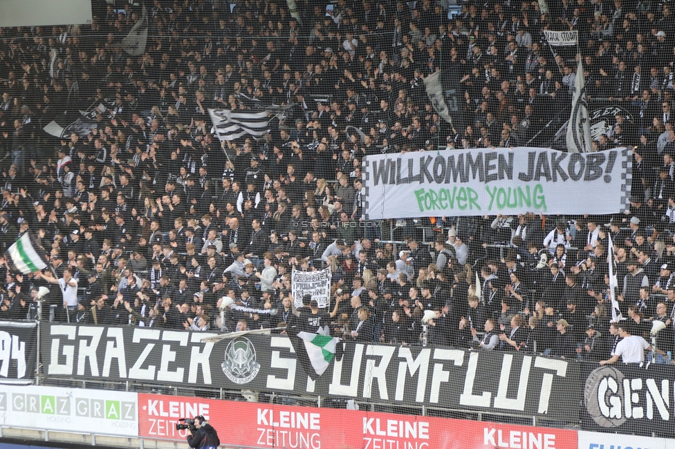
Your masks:
{"label": "white cloth banner reading WILLKOMMEN JAKOB! FOREVER YOUNG above the crowd", "polygon": [[365,213],[385,218],[618,213],[629,207],[632,155],[519,147],[363,159]]}

